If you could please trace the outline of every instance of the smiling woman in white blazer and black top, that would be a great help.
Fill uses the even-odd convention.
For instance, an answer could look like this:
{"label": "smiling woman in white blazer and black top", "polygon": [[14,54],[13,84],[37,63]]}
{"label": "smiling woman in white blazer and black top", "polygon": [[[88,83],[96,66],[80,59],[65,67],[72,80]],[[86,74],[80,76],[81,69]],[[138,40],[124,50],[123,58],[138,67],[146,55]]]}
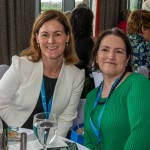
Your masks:
{"label": "smiling woman in white blazer and black top", "polygon": [[58,117],[58,135],[65,137],[77,116],[84,84],[84,70],[76,68],[76,63],[74,39],[65,16],[55,10],[40,14],[30,47],[12,58],[0,80],[2,119],[10,126],[32,128],[35,113],[50,111]]}

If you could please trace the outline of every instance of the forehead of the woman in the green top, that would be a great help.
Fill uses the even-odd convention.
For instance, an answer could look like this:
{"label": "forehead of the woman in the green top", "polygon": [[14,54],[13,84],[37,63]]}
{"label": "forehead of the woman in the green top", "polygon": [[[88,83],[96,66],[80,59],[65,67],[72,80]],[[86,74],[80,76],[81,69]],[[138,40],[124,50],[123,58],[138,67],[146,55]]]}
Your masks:
{"label": "forehead of the woman in the green top", "polygon": [[112,46],[112,47],[123,48],[123,49],[125,49],[126,47],[123,39],[116,35],[105,36],[102,39],[100,46]]}

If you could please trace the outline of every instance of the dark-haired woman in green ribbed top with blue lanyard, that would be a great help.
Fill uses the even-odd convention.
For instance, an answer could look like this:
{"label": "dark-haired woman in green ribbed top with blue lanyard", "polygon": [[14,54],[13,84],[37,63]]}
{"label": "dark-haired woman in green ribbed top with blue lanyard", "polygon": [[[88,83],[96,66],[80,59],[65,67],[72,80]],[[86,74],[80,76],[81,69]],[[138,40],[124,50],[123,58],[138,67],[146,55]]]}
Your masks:
{"label": "dark-haired woman in green ribbed top with blue lanyard", "polygon": [[91,150],[150,149],[150,81],[132,72],[131,56],[121,30],[98,37],[90,64],[104,80],[87,95],[84,109],[84,145]]}

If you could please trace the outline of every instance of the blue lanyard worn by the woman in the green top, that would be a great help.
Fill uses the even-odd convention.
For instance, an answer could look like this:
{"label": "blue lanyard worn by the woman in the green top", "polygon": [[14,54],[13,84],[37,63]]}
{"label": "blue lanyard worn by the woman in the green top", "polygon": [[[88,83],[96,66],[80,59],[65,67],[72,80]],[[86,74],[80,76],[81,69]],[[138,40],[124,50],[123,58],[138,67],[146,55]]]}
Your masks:
{"label": "blue lanyard worn by the woman in the green top", "polygon": [[92,119],[91,119],[91,114],[92,114],[92,112],[94,111],[95,107],[97,106],[99,99],[101,98],[104,81],[102,81],[101,84],[100,84],[99,91],[98,91],[98,94],[97,94],[96,99],[95,99],[95,102],[94,102],[94,107],[93,107],[93,110],[91,111],[91,114],[90,114],[90,125],[91,125],[91,127],[92,127],[92,130],[93,130],[94,134],[95,134],[96,137],[97,137],[98,144],[101,142],[101,135],[100,135],[100,131],[99,131],[99,130],[100,130],[102,115],[103,115],[103,112],[104,112],[106,103],[107,103],[109,97],[111,96],[112,92],[113,92],[114,89],[116,88],[116,86],[119,84],[119,82],[121,81],[121,79],[124,77],[125,73],[126,73],[126,72],[124,72],[124,73],[123,73],[119,78],[117,78],[117,79],[115,80],[115,82],[113,83],[113,85],[112,85],[112,87],[111,87],[111,90],[110,90],[110,92],[109,92],[109,95],[108,95],[108,97],[106,98],[106,101],[105,101],[105,103],[104,103],[104,105],[103,105],[103,107],[102,107],[102,109],[101,109],[100,115],[99,115],[99,117],[98,117],[98,129],[97,129],[97,128],[95,127],[95,125],[94,125]]}

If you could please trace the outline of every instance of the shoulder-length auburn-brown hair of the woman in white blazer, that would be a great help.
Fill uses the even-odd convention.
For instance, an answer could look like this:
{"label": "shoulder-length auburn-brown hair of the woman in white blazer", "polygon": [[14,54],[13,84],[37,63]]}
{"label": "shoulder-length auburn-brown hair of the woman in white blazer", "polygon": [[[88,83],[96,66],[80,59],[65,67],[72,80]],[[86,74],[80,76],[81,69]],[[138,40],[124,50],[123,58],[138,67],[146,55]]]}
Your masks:
{"label": "shoulder-length auburn-brown hair of the woman in white blazer", "polygon": [[75,51],[72,29],[63,13],[56,10],[48,10],[41,13],[35,20],[32,28],[30,47],[21,52],[20,56],[26,56],[32,62],[38,62],[41,59],[41,50],[36,41],[36,34],[39,33],[42,25],[49,20],[57,20],[63,27],[66,35],[69,35],[69,42],[64,51],[64,60],[66,64],[77,64],[79,58]]}

